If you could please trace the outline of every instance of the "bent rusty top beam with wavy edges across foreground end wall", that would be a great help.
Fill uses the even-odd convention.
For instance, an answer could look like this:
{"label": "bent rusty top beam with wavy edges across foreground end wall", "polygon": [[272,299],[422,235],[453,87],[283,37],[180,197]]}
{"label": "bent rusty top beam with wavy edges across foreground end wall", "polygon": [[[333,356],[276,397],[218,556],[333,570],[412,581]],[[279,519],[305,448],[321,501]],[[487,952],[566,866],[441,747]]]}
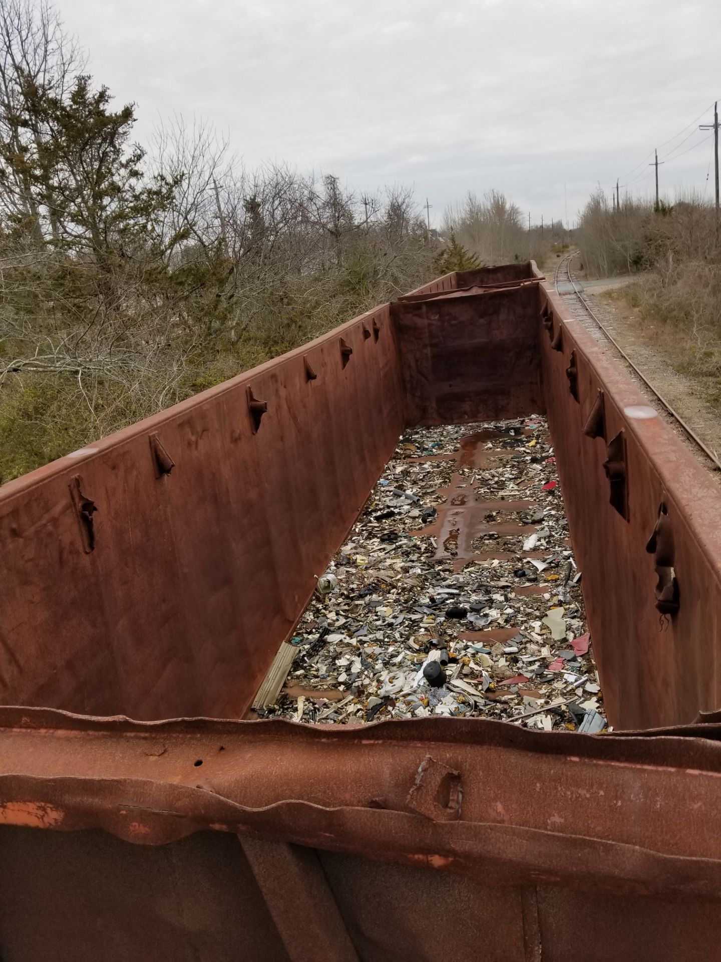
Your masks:
{"label": "bent rusty top beam with wavy edges across foreground end wall", "polygon": [[[578,891],[721,901],[721,745],[711,739],[480,719],[356,728],[2,708],[0,749],[4,824],[100,827],[143,845],[211,827],[411,866],[433,867],[437,855],[439,868],[479,879],[490,861],[505,884],[553,867],[547,882]],[[428,798],[411,792],[441,772],[460,793],[450,783]],[[646,850],[633,861],[634,847]]]}

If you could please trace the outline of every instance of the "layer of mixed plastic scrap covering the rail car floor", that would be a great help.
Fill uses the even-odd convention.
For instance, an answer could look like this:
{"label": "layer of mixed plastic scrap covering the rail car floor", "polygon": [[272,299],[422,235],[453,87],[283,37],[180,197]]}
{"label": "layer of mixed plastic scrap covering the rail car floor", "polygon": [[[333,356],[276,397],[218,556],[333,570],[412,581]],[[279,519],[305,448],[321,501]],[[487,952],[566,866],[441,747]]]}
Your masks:
{"label": "layer of mixed plastic scrap covering the rail car floor", "polygon": [[[260,714],[603,731],[553,453],[540,417],[408,431],[319,574],[286,687]],[[468,503],[483,523],[463,553],[454,511]]]}

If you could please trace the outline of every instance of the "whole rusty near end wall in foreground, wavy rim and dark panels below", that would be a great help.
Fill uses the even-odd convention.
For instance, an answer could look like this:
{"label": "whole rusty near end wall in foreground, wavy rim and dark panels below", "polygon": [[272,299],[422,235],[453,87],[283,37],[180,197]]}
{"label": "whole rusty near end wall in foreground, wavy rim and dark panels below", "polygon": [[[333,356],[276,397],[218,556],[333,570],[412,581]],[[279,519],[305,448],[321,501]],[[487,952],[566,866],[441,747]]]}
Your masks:
{"label": "whole rusty near end wall in foreground, wavy rim and dark panels below", "polygon": [[[0,946],[20,962],[234,945],[306,962],[313,937],[368,962],[435,958],[439,939],[453,958],[701,962],[721,936],[710,739],[6,708],[0,747]],[[455,807],[441,790],[419,809],[429,760]]]}

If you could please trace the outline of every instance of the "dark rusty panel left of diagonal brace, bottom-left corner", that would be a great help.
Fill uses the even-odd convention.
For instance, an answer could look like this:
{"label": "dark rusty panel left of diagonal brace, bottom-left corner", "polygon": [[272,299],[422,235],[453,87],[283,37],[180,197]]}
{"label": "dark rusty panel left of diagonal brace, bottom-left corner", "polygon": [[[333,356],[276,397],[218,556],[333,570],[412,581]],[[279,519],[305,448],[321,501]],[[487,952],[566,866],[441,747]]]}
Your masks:
{"label": "dark rusty panel left of diagonal brace, bottom-left corner", "polygon": [[156,848],[4,827],[0,857],[9,962],[293,962],[233,835]]}

